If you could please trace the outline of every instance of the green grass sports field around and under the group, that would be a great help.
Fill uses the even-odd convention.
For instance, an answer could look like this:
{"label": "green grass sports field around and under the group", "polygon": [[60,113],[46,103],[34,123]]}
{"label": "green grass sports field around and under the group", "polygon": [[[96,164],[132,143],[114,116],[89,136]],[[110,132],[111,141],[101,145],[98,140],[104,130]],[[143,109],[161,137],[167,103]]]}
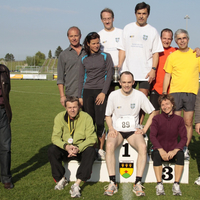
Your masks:
{"label": "green grass sports field around and under the group", "polygon": [[[59,103],[55,81],[12,80],[10,102],[13,111],[12,127],[12,174],[14,189],[5,190],[0,183],[1,200],[17,199],[71,199],[69,183],[62,191],[54,190],[54,181],[47,158],[51,144],[53,120],[64,110]],[[146,197],[142,199],[199,199],[200,186],[194,185],[200,169],[200,138],[194,132],[190,144],[189,184],[181,184],[182,197],[172,195],[172,184],[164,184],[166,196],[157,197],[156,183],[144,183]],[[154,173],[154,172],[152,172]],[[80,199],[137,199],[131,183],[119,184],[119,192],[112,197],[103,196],[108,183],[81,185]]]}

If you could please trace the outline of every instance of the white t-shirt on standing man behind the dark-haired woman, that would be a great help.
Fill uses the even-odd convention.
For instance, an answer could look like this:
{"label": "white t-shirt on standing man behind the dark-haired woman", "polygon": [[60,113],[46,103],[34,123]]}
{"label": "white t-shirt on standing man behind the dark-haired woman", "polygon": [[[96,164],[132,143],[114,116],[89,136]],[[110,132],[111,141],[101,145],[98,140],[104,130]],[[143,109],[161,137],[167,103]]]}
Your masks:
{"label": "white t-shirt on standing man behind the dark-haired woman", "polygon": [[122,38],[122,29],[115,28],[113,31],[105,31],[105,29],[99,32],[101,50],[109,53],[113,59],[115,66],[118,65],[118,50],[117,46]]}

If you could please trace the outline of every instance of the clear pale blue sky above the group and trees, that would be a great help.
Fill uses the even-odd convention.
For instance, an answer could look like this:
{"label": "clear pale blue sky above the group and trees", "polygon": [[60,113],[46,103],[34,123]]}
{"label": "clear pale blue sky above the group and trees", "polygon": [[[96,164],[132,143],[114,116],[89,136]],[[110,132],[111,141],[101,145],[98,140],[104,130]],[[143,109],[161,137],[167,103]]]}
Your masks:
{"label": "clear pale blue sky above the group and trees", "polygon": [[[123,28],[135,21],[134,8],[141,1],[130,0],[0,0],[0,58],[12,53],[16,60],[41,51],[48,56],[58,46],[69,45],[67,29],[78,26],[82,39],[91,31],[103,28],[100,12],[105,7],[115,13],[114,26]],[[200,47],[199,0],[146,0],[151,6],[148,23],[158,32],[163,28],[186,29],[184,17],[189,15],[189,46]],[[173,46],[176,44],[173,42]]]}

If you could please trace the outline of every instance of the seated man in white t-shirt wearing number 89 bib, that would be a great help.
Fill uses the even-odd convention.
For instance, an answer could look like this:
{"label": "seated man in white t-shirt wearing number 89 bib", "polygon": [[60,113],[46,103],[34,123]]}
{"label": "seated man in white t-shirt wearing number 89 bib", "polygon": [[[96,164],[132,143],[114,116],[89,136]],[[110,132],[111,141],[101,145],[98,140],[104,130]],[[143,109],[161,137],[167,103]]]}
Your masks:
{"label": "seated man in white t-shirt wearing number 89 bib", "polygon": [[[115,149],[127,139],[128,143],[138,151],[136,181],[133,192],[137,196],[145,196],[141,180],[146,165],[147,148],[144,134],[154,117],[154,107],[148,98],[140,91],[132,88],[135,83],[133,74],[124,71],[120,75],[121,89],[111,92],[106,107],[106,122],[109,133],[106,142],[106,164],[110,184],[104,195],[112,196],[118,191],[115,172]],[[143,129],[138,129],[139,112],[142,109],[150,114]]]}

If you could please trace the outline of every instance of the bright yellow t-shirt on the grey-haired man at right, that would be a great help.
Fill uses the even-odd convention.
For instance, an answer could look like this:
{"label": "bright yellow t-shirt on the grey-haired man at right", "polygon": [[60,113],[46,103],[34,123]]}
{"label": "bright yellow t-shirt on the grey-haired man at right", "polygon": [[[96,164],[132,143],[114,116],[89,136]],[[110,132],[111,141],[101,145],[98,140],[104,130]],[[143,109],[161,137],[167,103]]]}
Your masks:
{"label": "bright yellow t-shirt on the grey-haired man at right", "polygon": [[170,54],[164,70],[171,74],[170,93],[197,94],[199,88],[200,57],[189,48],[187,52],[177,50]]}

